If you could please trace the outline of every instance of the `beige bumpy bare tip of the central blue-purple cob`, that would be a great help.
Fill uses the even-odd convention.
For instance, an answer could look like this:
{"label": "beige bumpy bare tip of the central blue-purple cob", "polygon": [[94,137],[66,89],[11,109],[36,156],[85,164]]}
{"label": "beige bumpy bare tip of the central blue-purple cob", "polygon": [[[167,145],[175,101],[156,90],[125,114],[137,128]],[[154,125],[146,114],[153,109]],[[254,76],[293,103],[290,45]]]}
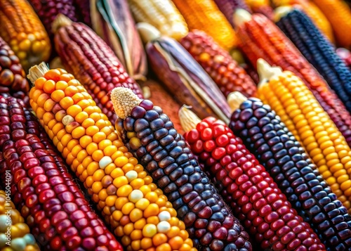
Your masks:
{"label": "beige bumpy bare tip of the central blue-purple cob", "polygon": [[117,116],[124,120],[131,115],[131,110],[140,104],[141,99],[131,89],[117,87],[111,92],[111,101]]}

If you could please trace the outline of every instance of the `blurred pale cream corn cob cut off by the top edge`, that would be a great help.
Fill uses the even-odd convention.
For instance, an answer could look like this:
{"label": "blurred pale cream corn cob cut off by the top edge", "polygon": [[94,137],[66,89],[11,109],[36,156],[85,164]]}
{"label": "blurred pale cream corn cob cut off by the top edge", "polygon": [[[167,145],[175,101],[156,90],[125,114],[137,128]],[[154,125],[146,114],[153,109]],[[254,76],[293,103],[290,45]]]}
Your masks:
{"label": "blurred pale cream corn cob cut off by the top edge", "polygon": [[189,32],[187,23],[171,0],[128,0],[136,22],[147,22],[161,34],[179,40]]}

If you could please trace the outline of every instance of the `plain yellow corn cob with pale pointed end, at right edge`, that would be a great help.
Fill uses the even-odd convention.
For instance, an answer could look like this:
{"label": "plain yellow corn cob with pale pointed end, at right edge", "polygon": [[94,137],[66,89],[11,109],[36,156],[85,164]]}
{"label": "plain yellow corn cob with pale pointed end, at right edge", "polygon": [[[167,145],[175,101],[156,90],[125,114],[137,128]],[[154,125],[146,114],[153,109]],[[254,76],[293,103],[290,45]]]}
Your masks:
{"label": "plain yellow corn cob with pale pointed end, at right edge", "polygon": [[303,81],[258,60],[259,98],[271,106],[310,155],[333,193],[351,212],[351,150]]}

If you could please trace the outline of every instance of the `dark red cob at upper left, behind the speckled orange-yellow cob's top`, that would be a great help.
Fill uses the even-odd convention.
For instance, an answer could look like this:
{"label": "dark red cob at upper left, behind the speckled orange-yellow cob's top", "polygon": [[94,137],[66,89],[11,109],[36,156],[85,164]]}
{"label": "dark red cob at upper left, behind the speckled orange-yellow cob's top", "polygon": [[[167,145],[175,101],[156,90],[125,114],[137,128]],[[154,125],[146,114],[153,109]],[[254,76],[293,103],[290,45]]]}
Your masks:
{"label": "dark red cob at upper left, behind the speckled orange-yellow cob's top", "polygon": [[93,30],[60,15],[55,21],[55,49],[65,68],[91,94],[112,123],[117,119],[108,95],[117,86],[133,89],[143,97],[140,86],[128,76],[114,52]]}

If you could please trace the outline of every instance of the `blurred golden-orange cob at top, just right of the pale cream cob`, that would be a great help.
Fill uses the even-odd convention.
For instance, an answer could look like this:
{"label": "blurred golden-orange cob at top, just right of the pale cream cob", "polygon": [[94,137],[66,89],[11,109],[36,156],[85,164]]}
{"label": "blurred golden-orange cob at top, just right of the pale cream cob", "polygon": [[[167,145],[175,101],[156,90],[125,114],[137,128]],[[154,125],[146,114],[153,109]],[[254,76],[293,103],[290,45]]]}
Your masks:
{"label": "blurred golden-orange cob at top, just right of the pale cream cob", "polygon": [[210,37],[230,51],[237,45],[237,37],[213,0],[173,0],[185,18],[189,30],[203,30]]}

